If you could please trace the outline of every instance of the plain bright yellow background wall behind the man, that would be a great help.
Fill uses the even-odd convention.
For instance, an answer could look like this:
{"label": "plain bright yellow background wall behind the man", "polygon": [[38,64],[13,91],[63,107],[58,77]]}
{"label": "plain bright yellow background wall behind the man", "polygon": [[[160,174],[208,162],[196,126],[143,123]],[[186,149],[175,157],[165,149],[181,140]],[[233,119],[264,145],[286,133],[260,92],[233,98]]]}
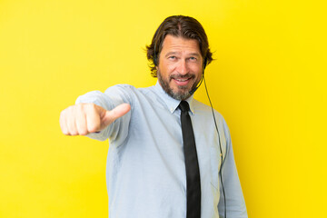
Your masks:
{"label": "plain bright yellow background wall behind the man", "polygon": [[[0,0],[0,217],[107,217],[107,142],[59,113],[155,84],[144,46],[168,15],[202,24],[249,217],[327,217],[325,1]],[[208,104],[204,87],[195,97]]]}

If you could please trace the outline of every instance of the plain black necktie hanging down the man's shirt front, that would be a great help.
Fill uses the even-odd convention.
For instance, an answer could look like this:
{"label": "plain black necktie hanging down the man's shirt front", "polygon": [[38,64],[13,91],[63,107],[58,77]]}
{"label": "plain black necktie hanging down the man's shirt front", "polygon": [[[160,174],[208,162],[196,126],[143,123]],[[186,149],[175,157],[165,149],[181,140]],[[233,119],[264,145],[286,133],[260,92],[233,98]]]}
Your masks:
{"label": "plain black necktie hanging down the man's shirt front", "polygon": [[187,213],[186,218],[200,218],[201,216],[201,186],[199,163],[196,154],[195,140],[190,107],[185,101],[178,106],[181,113],[181,124],[183,133],[183,152],[185,155],[186,168],[186,191],[187,191]]}

